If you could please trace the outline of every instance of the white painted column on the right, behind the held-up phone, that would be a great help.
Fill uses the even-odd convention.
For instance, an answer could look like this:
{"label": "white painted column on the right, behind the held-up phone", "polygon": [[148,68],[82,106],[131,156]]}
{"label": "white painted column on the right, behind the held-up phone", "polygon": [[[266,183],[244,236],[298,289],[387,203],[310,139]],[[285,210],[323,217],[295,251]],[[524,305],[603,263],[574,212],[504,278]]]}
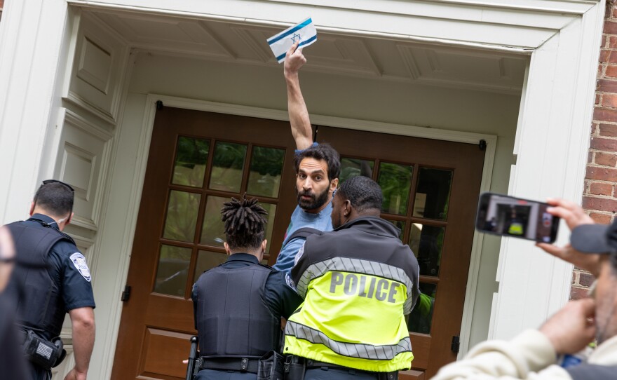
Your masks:
{"label": "white painted column on the right, behind the held-up phone", "polygon": [[[531,57],[521,106],[509,193],[581,202],[590,140],[604,4],[574,20]],[[562,223],[557,244],[569,240]],[[489,338],[510,339],[538,327],[569,297],[572,266],[503,238]]]}

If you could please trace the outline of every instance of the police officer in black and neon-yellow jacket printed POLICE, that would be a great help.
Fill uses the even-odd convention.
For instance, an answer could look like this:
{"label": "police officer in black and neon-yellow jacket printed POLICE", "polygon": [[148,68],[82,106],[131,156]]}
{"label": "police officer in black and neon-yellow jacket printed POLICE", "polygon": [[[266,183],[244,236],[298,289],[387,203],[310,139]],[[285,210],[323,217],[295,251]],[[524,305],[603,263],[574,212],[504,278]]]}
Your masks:
{"label": "police officer in black and neon-yellow jacket printed POLICE", "polygon": [[334,231],[308,236],[298,252],[292,279],[304,303],[287,321],[284,353],[304,364],[305,380],[390,380],[411,366],[405,315],[419,267],[379,217],[381,201],[372,179],[348,179],[332,200]]}

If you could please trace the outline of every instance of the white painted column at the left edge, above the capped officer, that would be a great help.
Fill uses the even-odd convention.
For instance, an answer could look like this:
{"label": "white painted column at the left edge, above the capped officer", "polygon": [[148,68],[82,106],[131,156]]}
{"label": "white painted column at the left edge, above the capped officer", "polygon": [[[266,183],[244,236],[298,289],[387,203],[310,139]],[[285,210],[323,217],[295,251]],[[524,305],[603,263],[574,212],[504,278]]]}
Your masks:
{"label": "white painted column at the left edge, above the capped officer", "polygon": [[[27,216],[52,114],[57,63],[67,20],[65,0],[12,0],[0,23],[0,223]],[[45,165],[46,167],[46,165]]]}

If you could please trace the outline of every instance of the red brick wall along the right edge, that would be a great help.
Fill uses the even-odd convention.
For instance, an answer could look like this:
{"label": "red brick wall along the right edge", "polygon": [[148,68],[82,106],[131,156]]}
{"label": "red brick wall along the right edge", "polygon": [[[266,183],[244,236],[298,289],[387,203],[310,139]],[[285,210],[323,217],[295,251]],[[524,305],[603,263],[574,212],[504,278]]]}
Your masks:
{"label": "red brick wall along the right edge", "polygon": [[[595,93],[595,110],[583,208],[598,223],[609,224],[617,212],[617,4],[606,2],[604,33]],[[592,276],[581,269],[572,273],[570,297],[584,297]]]}

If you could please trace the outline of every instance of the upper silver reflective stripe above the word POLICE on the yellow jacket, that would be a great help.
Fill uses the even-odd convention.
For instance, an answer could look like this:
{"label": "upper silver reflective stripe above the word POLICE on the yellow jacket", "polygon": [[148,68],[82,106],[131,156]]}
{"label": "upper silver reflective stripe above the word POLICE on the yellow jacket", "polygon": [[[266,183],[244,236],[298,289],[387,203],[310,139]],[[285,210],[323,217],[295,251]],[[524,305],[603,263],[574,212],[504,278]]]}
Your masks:
{"label": "upper silver reflective stripe above the word POLICE on the yellow jacket", "polygon": [[[414,306],[412,294],[414,290],[414,285],[411,278],[407,276],[405,271],[397,268],[396,266],[391,266],[388,264],[370,262],[368,260],[362,259],[350,259],[348,257],[333,257],[332,259],[327,259],[323,262],[318,262],[309,266],[306,271],[304,271],[296,285],[297,292],[300,297],[306,297],[306,290],[308,289],[308,283],[311,282],[311,279],[323,276],[328,271],[362,273],[358,274],[358,276],[360,276],[360,284],[358,284],[359,286],[356,286],[362,287],[362,285],[364,285],[364,292],[366,292],[367,294],[370,294],[371,286],[375,286],[376,284],[366,283],[366,280],[365,283],[362,284],[362,275],[372,275],[381,278],[389,278],[399,283],[402,283],[405,285],[405,287],[407,287],[407,299],[405,300],[405,304],[403,305],[403,313],[407,315],[412,312],[412,308]],[[359,292],[362,292],[362,289],[360,289]]]}

